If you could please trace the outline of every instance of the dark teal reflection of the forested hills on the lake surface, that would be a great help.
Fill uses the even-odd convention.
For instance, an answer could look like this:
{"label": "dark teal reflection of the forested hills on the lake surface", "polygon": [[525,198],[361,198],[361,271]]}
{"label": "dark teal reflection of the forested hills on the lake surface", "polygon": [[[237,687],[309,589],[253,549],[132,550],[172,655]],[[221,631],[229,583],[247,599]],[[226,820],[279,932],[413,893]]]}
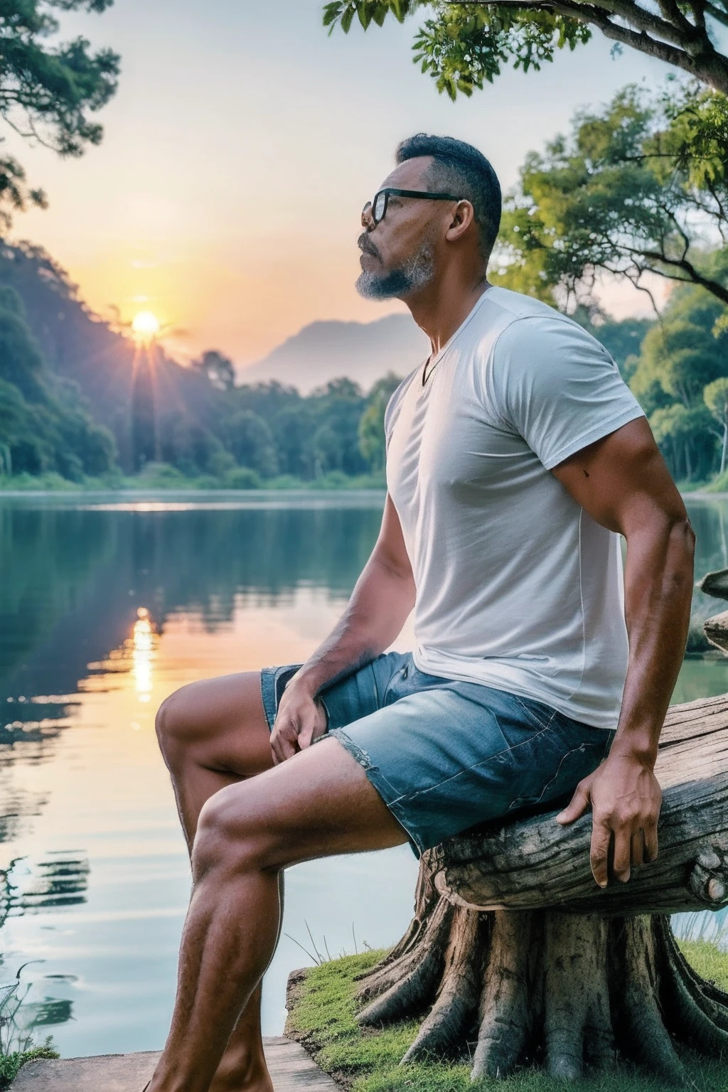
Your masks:
{"label": "dark teal reflection of the forested hills on the lake surface", "polygon": [[[0,841],[15,838],[44,803],[8,784],[8,770],[52,760],[80,680],[131,670],[139,701],[148,703],[170,616],[192,612],[213,633],[231,622],[241,596],[260,607],[290,606],[302,586],[348,593],[380,505],[342,509],[315,499],[310,508],[212,513],[0,501]],[[69,697],[37,697],[49,693]]]}

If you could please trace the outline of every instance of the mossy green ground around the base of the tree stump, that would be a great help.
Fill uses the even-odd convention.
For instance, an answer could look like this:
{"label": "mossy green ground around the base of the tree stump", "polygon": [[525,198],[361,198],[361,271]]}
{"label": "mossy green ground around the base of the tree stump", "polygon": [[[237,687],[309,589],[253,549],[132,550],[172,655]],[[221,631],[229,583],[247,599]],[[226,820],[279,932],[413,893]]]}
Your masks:
{"label": "mossy green ground around the base of the tree stump", "polygon": [[[680,941],[695,970],[728,990],[728,954],[704,940]],[[346,956],[312,968],[290,1002],[286,1033],[302,1042],[326,1072],[351,1092],[563,1092],[563,1081],[535,1069],[506,1080],[470,1081],[469,1066],[447,1064],[398,1065],[417,1032],[416,1020],[381,1031],[363,1030],[354,1019],[355,978],[384,954],[370,951]],[[728,1065],[685,1057],[694,1092],[726,1092]],[[657,1080],[623,1066],[570,1084],[574,1092],[665,1092]]]}

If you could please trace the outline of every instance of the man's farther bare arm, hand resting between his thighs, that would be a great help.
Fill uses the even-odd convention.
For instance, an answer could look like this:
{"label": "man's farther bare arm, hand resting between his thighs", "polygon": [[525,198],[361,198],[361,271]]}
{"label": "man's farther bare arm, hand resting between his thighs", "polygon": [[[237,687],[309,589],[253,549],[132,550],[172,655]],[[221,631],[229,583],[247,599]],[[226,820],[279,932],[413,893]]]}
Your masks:
{"label": "man's farther bare arm, hand resting between his thighs", "polygon": [[275,761],[309,746],[323,727],[322,711],[315,703],[319,691],[383,652],[414,605],[411,566],[399,518],[387,495],[379,537],[346,610],[286,687],[271,736]]}

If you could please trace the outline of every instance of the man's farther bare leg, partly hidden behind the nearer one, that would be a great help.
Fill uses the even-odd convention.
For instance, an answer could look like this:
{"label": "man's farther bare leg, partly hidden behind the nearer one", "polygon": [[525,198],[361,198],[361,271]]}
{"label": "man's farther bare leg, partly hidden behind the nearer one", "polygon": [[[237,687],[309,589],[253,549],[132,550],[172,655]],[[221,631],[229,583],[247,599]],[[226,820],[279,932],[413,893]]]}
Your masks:
{"label": "man's farther bare leg, partly hidden behind the nearer one", "polygon": [[[260,675],[227,675],[182,687],[159,709],[157,735],[191,852],[205,802],[273,765]],[[279,898],[283,905],[283,874]],[[259,985],[230,1036],[211,1085],[214,1092],[272,1092],[260,1008]]]}

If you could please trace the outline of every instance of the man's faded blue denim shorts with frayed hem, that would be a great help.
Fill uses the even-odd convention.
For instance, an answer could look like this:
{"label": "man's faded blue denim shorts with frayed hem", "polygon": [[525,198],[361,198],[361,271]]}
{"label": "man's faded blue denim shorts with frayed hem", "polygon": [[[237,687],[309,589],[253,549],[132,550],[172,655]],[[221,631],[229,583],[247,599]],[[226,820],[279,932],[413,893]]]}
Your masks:
{"label": "man's faded blue denim shorts with frayed hem", "polygon": [[[299,667],[261,672],[270,728]],[[411,653],[378,656],[319,698],[320,738],[334,736],[363,767],[417,856],[478,823],[568,803],[616,734],[534,698],[426,675]]]}

